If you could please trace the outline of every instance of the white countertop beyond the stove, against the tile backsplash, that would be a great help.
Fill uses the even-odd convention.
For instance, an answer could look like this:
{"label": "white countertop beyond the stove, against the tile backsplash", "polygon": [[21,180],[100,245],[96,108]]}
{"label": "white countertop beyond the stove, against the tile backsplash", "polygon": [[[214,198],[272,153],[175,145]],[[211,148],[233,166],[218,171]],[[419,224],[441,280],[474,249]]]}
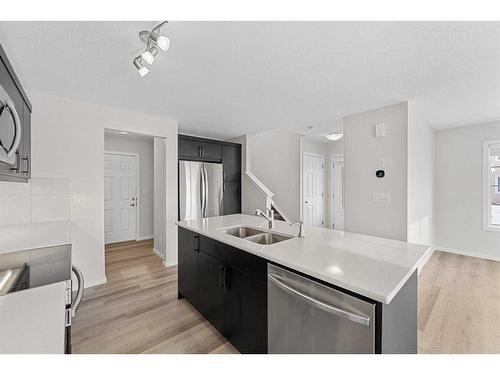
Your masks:
{"label": "white countertop beyond the stove, against the tile backsplash", "polygon": [[70,244],[68,220],[0,226],[0,254]]}

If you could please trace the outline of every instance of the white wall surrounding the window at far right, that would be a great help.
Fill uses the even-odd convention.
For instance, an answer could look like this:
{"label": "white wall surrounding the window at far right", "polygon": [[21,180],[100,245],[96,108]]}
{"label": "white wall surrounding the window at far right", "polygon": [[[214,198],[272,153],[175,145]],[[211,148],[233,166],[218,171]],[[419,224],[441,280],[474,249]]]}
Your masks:
{"label": "white wall surrounding the window at far right", "polygon": [[435,248],[500,260],[500,232],[483,230],[483,141],[500,123],[436,132]]}

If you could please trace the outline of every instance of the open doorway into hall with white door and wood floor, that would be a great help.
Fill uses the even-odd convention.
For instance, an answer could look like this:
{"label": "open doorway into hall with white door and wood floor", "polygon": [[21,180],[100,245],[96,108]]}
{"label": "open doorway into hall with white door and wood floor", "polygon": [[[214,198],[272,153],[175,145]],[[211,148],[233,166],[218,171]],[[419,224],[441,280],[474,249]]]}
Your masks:
{"label": "open doorway into hall with white door and wood floor", "polygon": [[103,156],[106,268],[118,253],[139,261],[141,249],[164,262],[165,138],[105,129]]}

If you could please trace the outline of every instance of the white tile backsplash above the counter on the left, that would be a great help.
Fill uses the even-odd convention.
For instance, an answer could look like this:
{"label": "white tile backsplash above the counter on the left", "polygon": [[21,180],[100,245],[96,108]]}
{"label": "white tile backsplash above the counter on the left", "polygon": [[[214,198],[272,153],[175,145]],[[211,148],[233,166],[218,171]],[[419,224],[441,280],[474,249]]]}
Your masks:
{"label": "white tile backsplash above the counter on the left", "polygon": [[0,182],[0,225],[71,219],[68,179],[37,178]]}

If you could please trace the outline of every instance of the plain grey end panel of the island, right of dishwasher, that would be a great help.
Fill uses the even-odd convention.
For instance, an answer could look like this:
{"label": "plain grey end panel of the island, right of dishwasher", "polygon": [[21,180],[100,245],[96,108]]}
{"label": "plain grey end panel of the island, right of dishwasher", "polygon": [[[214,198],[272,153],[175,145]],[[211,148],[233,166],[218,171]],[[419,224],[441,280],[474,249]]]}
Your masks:
{"label": "plain grey end panel of the island, right of dishwasher", "polygon": [[417,271],[389,304],[382,304],[382,354],[417,353]]}

